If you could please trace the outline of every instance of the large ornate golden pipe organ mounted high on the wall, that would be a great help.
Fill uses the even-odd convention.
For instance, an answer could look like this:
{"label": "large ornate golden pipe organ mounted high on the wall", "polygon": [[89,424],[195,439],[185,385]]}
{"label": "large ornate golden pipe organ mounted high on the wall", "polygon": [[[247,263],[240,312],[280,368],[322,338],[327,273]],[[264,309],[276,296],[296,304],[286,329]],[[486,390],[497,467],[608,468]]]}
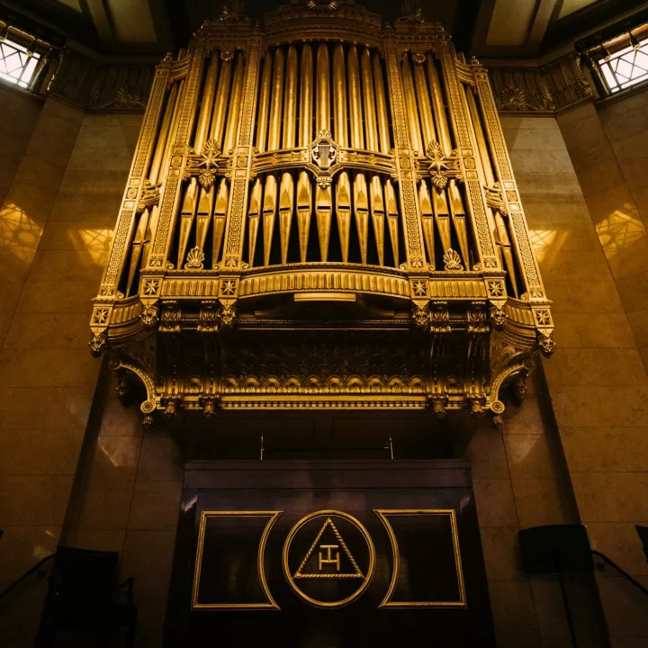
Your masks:
{"label": "large ornate golden pipe organ mounted high on the wall", "polygon": [[[419,15],[230,3],[157,67],[100,291],[141,410],[490,411],[554,347],[486,70]],[[130,376],[130,378],[129,378]]]}

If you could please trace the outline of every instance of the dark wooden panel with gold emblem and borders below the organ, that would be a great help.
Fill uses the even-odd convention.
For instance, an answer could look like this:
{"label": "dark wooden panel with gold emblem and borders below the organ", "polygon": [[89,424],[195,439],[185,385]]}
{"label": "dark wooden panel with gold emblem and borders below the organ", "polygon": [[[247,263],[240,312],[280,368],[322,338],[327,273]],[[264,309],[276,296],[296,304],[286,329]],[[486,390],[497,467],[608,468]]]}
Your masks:
{"label": "dark wooden panel with gold emblem and borders below the organ", "polygon": [[[439,648],[495,645],[465,462],[192,462],[181,509],[167,648],[205,642],[356,648],[415,640]],[[329,509],[344,515],[316,516],[299,525]],[[192,610],[201,519],[202,569],[193,602],[238,609]],[[264,538],[266,590],[258,570]],[[338,570],[346,576],[332,578]],[[318,607],[353,596],[365,581],[366,589],[346,606]],[[420,603],[427,605],[412,605]]]}

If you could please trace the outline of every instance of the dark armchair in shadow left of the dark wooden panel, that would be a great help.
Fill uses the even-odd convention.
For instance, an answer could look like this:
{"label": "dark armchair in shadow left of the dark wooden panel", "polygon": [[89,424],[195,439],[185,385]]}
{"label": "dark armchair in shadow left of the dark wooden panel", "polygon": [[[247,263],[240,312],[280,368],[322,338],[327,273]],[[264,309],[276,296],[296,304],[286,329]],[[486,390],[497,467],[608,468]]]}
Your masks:
{"label": "dark armchair in shadow left of the dark wooden panel", "polygon": [[117,552],[59,546],[49,577],[37,646],[56,646],[59,630],[92,634],[99,645],[107,645],[112,635],[125,629],[126,645],[130,648],[137,623],[137,607],[132,602],[133,580],[120,584],[118,570]]}

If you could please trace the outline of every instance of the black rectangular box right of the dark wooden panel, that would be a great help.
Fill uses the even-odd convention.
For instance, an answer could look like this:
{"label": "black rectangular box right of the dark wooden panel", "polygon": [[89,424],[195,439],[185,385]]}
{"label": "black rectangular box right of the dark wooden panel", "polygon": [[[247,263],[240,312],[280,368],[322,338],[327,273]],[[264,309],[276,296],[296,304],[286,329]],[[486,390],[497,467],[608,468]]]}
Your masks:
{"label": "black rectangular box right of the dark wooden panel", "polygon": [[582,525],[549,525],[519,532],[522,569],[529,574],[592,572],[590,539]]}

